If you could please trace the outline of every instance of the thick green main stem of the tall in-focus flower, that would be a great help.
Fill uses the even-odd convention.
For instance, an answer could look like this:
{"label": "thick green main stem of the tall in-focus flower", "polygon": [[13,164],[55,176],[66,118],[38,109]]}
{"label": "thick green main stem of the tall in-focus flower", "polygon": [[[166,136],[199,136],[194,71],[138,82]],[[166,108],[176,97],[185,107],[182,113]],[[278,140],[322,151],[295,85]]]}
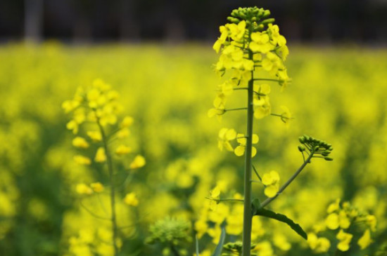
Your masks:
{"label": "thick green main stem of the tall in-focus flower", "polygon": [[[249,51],[248,58],[253,60],[253,53]],[[252,78],[248,81],[247,90],[247,132],[246,132],[246,160],[244,177],[244,207],[243,207],[243,245],[242,256],[250,256],[251,250],[251,224],[253,213],[251,206],[251,148],[253,147],[253,93],[254,93],[254,72],[251,72]]]}

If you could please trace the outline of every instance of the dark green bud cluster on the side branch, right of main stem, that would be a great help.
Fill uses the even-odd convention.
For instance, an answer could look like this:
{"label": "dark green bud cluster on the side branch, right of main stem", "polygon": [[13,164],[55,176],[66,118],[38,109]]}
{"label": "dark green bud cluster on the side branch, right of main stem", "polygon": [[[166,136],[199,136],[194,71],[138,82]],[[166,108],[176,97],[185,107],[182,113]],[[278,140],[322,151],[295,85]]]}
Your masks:
{"label": "dark green bud cluster on the side branch, right of main stem", "polygon": [[332,161],[329,154],[334,150],[331,144],[325,142],[324,140],[318,140],[315,137],[310,137],[308,135],[303,135],[298,137],[300,141],[300,145],[298,146],[298,150],[300,152],[309,151],[310,154],[319,154],[319,157],[322,157],[326,161]]}

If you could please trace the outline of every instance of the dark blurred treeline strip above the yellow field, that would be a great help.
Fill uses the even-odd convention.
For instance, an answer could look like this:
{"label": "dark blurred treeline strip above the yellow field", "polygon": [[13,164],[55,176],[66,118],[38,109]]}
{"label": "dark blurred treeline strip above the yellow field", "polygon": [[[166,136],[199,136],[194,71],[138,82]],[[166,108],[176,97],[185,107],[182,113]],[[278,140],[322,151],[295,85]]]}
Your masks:
{"label": "dark blurred treeline strip above the yellow field", "polygon": [[385,0],[1,0],[0,39],[213,41],[239,6],[268,8],[290,41],[387,41]]}

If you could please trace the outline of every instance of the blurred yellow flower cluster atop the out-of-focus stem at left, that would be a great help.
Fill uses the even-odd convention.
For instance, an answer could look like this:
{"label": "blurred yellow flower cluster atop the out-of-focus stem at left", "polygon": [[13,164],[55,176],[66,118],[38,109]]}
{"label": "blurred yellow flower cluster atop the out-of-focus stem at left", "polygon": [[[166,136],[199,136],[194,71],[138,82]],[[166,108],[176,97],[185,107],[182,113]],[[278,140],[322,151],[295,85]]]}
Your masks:
{"label": "blurred yellow flower cluster atop the out-of-focus stem at left", "polygon": [[[132,116],[125,116],[118,123],[118,114],[122,112],[122,106],[117,99],[119,94],[112,90],[110,85],[101,79],[94,80],[89,88],[78,88],[72,100],[63,102],[63,109],[66,113],[72,113],[72,120],[67,123],[67,128],[77,135],[72,140],[72,145],[78,149],[89,149],[92,143],[96,144],[94,161],[96,163],[106,162],[106,149],[103,147],[103,139],[123,141],[130,134],[129,127],[134,119]],[[84,130],[80,130],[84,126]],[[108,130],[113,133],[107,135]],[[132,152],[131,147],[124,142],[114,143],[116,156],[124,156]],[[90,165],[92,160],[89,156],[77,154],[74,161],[81,165]],[[146,163],[143,156],[134,156],[128,168],[141,168]]]}

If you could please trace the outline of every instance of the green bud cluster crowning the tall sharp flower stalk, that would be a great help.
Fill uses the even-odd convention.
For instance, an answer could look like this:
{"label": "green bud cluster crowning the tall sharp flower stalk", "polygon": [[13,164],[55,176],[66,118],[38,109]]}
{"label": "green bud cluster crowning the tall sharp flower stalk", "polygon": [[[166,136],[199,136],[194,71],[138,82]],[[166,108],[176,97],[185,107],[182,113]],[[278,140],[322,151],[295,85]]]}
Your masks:
{"label": "green bud cluster crowning the tall sharp flower stalk", "polygon": [[274,18],[269,18],[270,11],[263,8],[248,7],[235,9],[231,12],[231,16],[227,20],[231,23],[238,24],[242,20],[246,20],[247,27],[250,27],[253,32],[263,31],[265,25],[274,22]]}

